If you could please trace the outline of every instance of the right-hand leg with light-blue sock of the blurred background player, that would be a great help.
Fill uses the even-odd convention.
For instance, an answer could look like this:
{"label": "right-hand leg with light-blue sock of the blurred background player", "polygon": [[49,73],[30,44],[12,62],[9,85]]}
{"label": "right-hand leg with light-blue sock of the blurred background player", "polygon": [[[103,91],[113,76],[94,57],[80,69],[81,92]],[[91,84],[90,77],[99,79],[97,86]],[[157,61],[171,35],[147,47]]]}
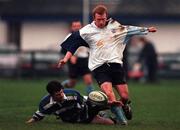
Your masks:
{"label": "right-hand leg with light-blue sock of the blurred background player", "polygon": [[86,93],[89,94],[94,90],[92,75],[90,73],[83,75],[83,80],[86,84]]}

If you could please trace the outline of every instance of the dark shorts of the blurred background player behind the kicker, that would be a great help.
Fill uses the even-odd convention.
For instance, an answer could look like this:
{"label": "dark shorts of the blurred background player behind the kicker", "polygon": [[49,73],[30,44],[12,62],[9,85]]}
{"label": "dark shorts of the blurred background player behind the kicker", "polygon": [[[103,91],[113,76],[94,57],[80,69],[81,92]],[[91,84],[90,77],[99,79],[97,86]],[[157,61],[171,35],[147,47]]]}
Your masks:
{"label": "dark shorts of the blurred background player behind the kicker", "polygon": [[69,77],[73,79],[91,73],[88,68],[88,58],[78,58],[76,64],[68,62],[68,69]]}

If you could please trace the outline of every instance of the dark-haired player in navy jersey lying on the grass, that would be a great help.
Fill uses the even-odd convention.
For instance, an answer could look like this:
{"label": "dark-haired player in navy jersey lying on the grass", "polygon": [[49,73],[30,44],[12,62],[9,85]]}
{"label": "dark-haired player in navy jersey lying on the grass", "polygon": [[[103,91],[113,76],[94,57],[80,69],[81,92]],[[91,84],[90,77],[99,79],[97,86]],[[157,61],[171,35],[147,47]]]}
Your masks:
{"label": "dark-haired player in navy jersey lying on the grass", "polygon": [[98,112],[103,107],[92,105],[73,89],[63,89],[58,81],[47,85],[48,95],[39,104],[39,109],[26,122],[31,124],[42,120],[46,115],[56,115],[63,122],[114,124],[109,118],[100,117]]}

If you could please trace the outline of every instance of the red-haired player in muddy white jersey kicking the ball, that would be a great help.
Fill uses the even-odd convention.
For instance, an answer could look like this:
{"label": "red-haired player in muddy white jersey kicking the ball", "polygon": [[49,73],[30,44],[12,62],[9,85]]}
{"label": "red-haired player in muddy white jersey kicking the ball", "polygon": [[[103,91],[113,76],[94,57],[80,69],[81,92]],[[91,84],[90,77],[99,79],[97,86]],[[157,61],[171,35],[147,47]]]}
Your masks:
{"label": "red-haired player in muddy white jersey kicking the ball", "polygon": [[[128,105],[128,85],[122,67],[123,51],[132,36],[156,32],[156,28],[121,25],[113,19],[108,19],[108,11],[104,5],[98,5],[93,9],[93,20],[91,24],[72,33],[64,40],[61,46],[67,50],[67,53],[59,60],[58,66],[62,67],[80,46],[89,47],[89,69],[93,71],[109,102],[112,102],[111,111],[120,124],[126,125],[127,119],[132,118],[132,112]],[[121,101],[116,100],[112,86],[116,88]],[[123,105],[118,105],[121,102]]]}

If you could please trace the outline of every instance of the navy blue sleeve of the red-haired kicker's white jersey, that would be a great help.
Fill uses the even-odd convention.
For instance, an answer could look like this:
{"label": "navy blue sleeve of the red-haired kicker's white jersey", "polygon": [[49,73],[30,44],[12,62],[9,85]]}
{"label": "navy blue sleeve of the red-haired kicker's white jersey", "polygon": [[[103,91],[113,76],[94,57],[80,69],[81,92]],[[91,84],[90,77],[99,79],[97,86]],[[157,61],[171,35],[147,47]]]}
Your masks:
{"label": "navy blue sleeve of the red-haired kicker's white jersey", "polygon": [[74,54],[80,46],[89,47],[86,41],[80,36],[79,31],[71,33],[61,44],[63,49],[70,51],[72,54]]}

